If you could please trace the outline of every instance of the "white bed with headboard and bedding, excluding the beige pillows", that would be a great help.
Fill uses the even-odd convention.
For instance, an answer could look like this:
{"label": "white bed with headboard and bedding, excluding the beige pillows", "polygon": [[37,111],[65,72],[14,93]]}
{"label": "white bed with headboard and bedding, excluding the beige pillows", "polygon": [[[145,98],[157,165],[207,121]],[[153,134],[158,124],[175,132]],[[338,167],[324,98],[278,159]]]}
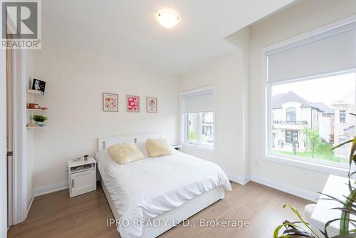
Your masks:
{"label": "white bed with headboard and bedding, excluding the beige pillows", "polygon": [[172,149],[172,155],[148,157],[119,165],[106,148],[136,143],[145,150],[148,138],[159,134],[98,138],[100,184],[117,219],[122,238],[157,237],[214,202],[224,199],[231,185],[221,168]]}

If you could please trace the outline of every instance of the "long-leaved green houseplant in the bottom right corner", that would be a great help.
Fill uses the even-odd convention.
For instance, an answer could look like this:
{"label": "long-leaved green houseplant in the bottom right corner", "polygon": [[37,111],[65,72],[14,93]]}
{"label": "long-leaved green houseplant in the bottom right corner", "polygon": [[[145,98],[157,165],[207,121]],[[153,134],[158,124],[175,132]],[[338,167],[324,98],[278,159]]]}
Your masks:
{"label": "long-leaved green houseplant in the bottom right corner", "polygon": [[[353,113],[350,113],[351,115],[355,115]],[[356,116],[356,115],[355,115]],[[355,183],[351,182],[351,178],[353,175],[356,175],[356,171],[352,172],[352,163],[355,163],[356,165],[356,136],[352,140],[348,140],[345,143],[342,143],[340,145],[335,146],[335,148],[339,148],[342,145],[346,145],[348,143],[352,143],[351,149],[350,149],[350,158],[349,158],[349,172],[348,172],[348,187],[349,187],[349,192],[350,195],[345,196],[345,201],[344,200],[339,200],[336,197],[333,197],[331,195],[325,195],[323,193],[320,193],[322,195],[325,195],[324,200],[333,200],[338,203],[340,203],[340,207],[335,207],[334,209],[340,210],[341,211],[341,216],[340,218],[336,218],[333,220],[330,220],[329,222],[326,222],[324,230],[320,230],[320,232],[323,234],[323,237],[318,236],[318,234],[313,231],[313,229],[310,227],[308,222],[305,222],[303,217],[300,215],[297,209],[291,205],[284,205],[283,208],[290,208],[291,211],[298,217],[299,221],[298,222],[289,222],[286,220],[282,224],[278,225],[276,229],[273,232],[273,238],[350,238],[350,237],[356,237],[356,229],[353,229],[352,227],[355,227],[356,221],[354,219],[350,218],[350,215],[356,215],[356,187]],[[333,148],[332,150],[334,150]],[[328,226],[336,221],[340,221],[340,227],[339,227],[339,232],[337,236],[330,237],[328,235],[327,228]],[[280,234],[282,233],[282,234]]]}

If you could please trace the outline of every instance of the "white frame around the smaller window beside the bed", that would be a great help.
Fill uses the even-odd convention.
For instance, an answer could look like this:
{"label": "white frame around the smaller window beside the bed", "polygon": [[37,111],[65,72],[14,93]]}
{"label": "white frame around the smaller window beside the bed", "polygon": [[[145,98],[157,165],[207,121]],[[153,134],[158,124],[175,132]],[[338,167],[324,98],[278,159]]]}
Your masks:
{"label": "white frame around the smaller window beside the bed", "polygon": [[[211,90],[212,91],[212,96],[213,96],[213,110],[212,113],[214,113],[213,115],[213,130],[214,130],[214,134],[213,134],[213,138],[214,138],[214,143],[212,147],[209,146],[204,146],[201,145],[201,143],[193,143],[193,142],[188,142],[186,140],[187,138],[187,119],[188,119],[188,115],[187,113],[184,113],[184,95],[189,95],[189,94],[197,94],[197,93],[201,93],[204,92],[206,90]],[[216,152],[216,86],[207,86],[207,87],[203,87],[203,88],[196,88],[194,90],[187,90],[187,91],[183,91],[181,93],[179,93],[179,98],[180,98],[180,122],[179,122],[179,135],[180,135],[180,142],[184,147],[187,148],[194,148],[197,150],[202,150],[202,151],[206,151],[206,152]]]}

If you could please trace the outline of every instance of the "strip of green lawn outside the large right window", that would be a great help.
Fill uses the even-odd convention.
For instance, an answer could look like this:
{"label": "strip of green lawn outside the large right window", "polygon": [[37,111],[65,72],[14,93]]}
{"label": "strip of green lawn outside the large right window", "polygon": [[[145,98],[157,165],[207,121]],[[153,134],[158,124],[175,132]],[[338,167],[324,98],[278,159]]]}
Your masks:
{"label": "strip of green lawn outside the large right window", "polygon": [[[273,152],[276,153],[276,154],[282,154],[282,155],[294,155],[294,153],[292,151],[273,150]],[[312,157],[312,152],[310,152],[310,151],[305,151],[305,152],[296,151],[295,155],[296,156],[300,156],[300,157],[311,158]],[[326,160],[326,161],[331,161],[331,162],[340,162],[342,164],[347,164],[348,163],[347,158],[335,157],[333,151],[331,151],[331,150],[316,151],[316,152],[314,152],[313,159],[315,159],[315,160]]]}

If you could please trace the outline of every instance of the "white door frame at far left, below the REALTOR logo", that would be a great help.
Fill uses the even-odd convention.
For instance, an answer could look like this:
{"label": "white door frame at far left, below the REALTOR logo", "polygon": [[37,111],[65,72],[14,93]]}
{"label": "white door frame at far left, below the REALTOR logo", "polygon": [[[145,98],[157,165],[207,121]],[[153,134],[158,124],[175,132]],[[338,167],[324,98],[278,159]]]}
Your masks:
{"label": "white door frame at far left, below the REALTOR logo", "polygon": [[[9,103],[12,115],[8,118],[12,129],[13,156],[8,163],[9,202],[8,225],[23,222],[27,217],[27,162],[26,162],[26,53],[23,50],[10,50],[9,75],[12,78],[9,88]],[[8,103],[8,104],[9,104]],[[9,129],[10,130],[10,129]]]}

